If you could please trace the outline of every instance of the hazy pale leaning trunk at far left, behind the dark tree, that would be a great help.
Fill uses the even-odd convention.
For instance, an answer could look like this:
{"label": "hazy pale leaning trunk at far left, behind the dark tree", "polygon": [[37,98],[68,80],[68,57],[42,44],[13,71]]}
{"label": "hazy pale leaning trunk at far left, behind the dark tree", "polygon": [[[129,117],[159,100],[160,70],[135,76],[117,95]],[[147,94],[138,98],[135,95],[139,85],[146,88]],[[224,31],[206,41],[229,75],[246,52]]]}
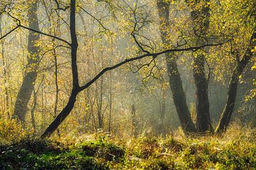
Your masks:
{"label": "hazy pale leaning trunk at far left, behind the dark tree", "polygon": [[[37,1],[33,2],[28,9],[28,23],[29,28],[33,30],[39,30],[38,16],[37,16]],[[17,118],[21,123],[25,123],[28,101],[31,98],[34,84],[37,77],[38,62],[40,60],[38,51],[39,47],[36,45],[40,35],[29,30],[28,35],[28,65],[25,70],[25,76],[23,78],[21,88],[18,91],[16,103],[14,106],[14,114],[12,118]]]}

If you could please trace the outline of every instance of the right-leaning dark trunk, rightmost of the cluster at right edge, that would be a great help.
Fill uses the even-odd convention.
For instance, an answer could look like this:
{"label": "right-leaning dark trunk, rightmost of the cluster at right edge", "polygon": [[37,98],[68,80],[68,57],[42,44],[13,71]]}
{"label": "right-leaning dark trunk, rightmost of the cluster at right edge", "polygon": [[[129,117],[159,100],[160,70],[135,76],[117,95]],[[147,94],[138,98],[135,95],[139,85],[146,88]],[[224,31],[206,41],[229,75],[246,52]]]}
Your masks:
{"label": "right-leaning dark trunk, rightmost of the cluster at right edge", "polygon": [[256,38],[256,32],[254,30],[254,33],[252,33],[252,37],[250,38],[250,46],[247,48],[245,55],[243,55],[242,57],[242,60],[238,61],[237,66],[233,70],[232,77],[228,84],[228,99],[225,104],[223,113],[221,113],[220,115],[218,126],[215,129],[215,133],[217,134],[225,132],[225,130],[227,130],[228,128],[228,124],[230,123],[230,118],[235,108],[235,98],[236,98],[237,89],[238,89],[239,77],[242,74],[243,69],[245,69],[246,65],[248,64],[248,62],[250,62],[250,59],[253,56],[252,50],[256,45],[255,38]]}

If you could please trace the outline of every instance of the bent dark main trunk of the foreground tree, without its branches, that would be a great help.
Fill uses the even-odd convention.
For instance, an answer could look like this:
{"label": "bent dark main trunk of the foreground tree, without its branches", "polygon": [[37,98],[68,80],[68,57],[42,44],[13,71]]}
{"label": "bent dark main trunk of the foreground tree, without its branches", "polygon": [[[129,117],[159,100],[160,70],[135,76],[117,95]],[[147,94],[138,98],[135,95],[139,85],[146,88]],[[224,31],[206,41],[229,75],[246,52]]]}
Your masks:
{"label": "bent dark main trunk of the foreground tree, without its branches", "polygon": [[75,105],[76,97],[80,92],[78,84],[78,65],[77,65],[77,52],[78,52],[78,38],[75,31],[75,0],[70,0],[70,36],[71,36],[71,68],[73,77],[73,89],[68,99],[68,103],[63,110],[57,115],[55,120],[48,126],[46,131],[41,137],[48,137],[58,128],[60,123],[65,120]]}

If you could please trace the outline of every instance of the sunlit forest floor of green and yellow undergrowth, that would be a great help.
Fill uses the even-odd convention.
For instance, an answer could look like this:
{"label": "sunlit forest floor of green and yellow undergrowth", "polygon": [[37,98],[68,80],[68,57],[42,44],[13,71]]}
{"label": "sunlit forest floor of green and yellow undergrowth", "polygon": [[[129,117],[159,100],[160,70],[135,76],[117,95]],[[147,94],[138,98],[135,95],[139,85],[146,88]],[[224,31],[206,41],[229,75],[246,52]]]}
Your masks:
{"label": "sunlit forest floor of green and yellow undergrowth", "polygon": [[255,130],[233,129],[222,137],[95,136],[1,144],[0,169],[256,169]]}

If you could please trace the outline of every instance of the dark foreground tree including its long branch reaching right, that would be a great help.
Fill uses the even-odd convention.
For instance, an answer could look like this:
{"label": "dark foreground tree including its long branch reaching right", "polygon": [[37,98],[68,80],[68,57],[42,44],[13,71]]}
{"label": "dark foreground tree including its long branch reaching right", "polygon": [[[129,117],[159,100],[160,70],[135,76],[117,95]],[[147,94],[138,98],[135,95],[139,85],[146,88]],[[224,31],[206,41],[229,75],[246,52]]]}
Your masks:
{"label": "dark foreground tree including its long branch reaching right", "polygon": [[[165,54],[165,53],[171,54],[172,52],[183,52],[183,51],[198,50],[198,49],[202,49],[203,47],[223,45],[225,43],[225,42],[220,42],[220,43],[216,43],[216,44],[206,44],[206,45],[201,45],[201,46],[196,46],[196,47],[183,47],[183,48],[174,47],[173,49],[169,48],[167,50],[163,50],[163,51],[160,51],[160,52],[148,52],[148,51],[143,50],[143,48],[142,48],[141,52],[139,52],[139,55],[137,55],[137,57],[129,57],[129,58],[127,58],[127,59],[125,59],[121,62],[117,62],[117,64],[114,64],[111,67],[105,67],[104,69],[102,69],[101,72],[96,74],[96,76],[93,77],[90,81],[87,81],[86,84],[83,84],[82,86],[80,86],[79,77],[78,77],[78,59],[77,59],[77,57],[78,57],[78,55],[77,55],[78,54],[78,38],[77,38],[76,25],[75,25],[75,23],[76,23],[76,21],[75,21],[76,6],[78,6],[78,2],[76,2],[75,0],[70,0],[70,4],[68,4],[67,6],[64,6],[64,7],[62,7],[63,4],[59,4],[58,1],[55,1],[55,4],[57,4],[57,8],[55,8],[55,10],[61,10],[61,11],[70,10],[70,13],[69,13],[69,16],[70,16],[69,17],[69,22],[70,23],[69,24],[65,23],[65,24],[69,25],[68,28],[69,28],[69,31],[70,31],[71,42],[68,42],[68,40],[57,37],[55,35],[50,35],[49,33],[44,33],[44,32],[41,32],[40,30],[36,30],[36,29],[33,29],[33,28],[26,27],[26,26],[23,25],[23,23],[20,20],[18,20],[18,18],[14,17],[14,16],[11,16],[11,14],[8,13],[8,12],[6,12],[6,13],[8,13],[11,16],[11,18],[14,19],[14,21],[16,21],[17,26],[14,27],[12,30],[10,30],[8,33],[6,33],[6,35],[3,35],[0,38],[0,40],[2,38],[5,38],[7,35],[14,32],[18,28],[24,28],[24,29],[33,31],[34,33],[38,33],[38,34],[41,34],[41,35],[46,35],[46,36],[48,36],[50,38],[53,38],[55,40],[59,40],[60,42],[65,43],[65,45],[61,45],[61,47],[65,47],[65,48],[71,50],[70,59],[71,59],[71,70],[72,70],[72,90],[71,90],[70,96],[68,98],[68,103],[65,105],[63,110],[60,111],[60,113],[55,117],[55,120],[53,120],[53,122],[50,123],[50,125],[48,126],[46,131],[43,133],[42,137],[47,137],[47,136],[51,135],[58,128],[60,123],[62,123],[63,120],[65,120],[65,118],[73,110],[73,107],[75,105],[75,101],[77,99],[78,94],[80,94],[81,91],[83,91],[83,90],[87,89],[89,86],[91,86],[91,84],[94,83],[95,81],[97,81],[100,77],[102,77],[102,75],[105,74],[105,72],[108,72],[112,69],[116,69],[117,67],[121,67],[122,65],[127,64],[129,62],[134,62],[136,60],[142,60],[144,58],[151,58],[152,60],[154,60],[159,55],[162,55],[162,54]],[[98,21],[98,20],[96,20],[96,21]],[[135,26],[136,26],[136,24],[137,24],[137,22],[135,23]],[[137,43],[136,38],[134,38],[134,40]],[[137,45],[140,47],[139,43],[137,43]],[[173,58],[171,58],[171,59],[173,60]],[[171,63],[174,63],[174,61],[171,61]],[[174,63],[174,66],[175,66],[175,63]],[[169,69],[173,69],[173,68],[171,67]],[[174,69],[176,69],[176,68],[174,68]],[[169,72],[171,72],[171,71],[169,71]],[[179,82],[179,83],[181,83],[181,82]],[[174,86],[174,88],[178,88],[178,90],[180,90],[180,87]],[[177,98],[177,101],[180,100],[180,98],[178,98],[177,96],[176,96],[176,98]],[[184,98],[185,97],[183,97],[183,99]],[[181,109],[183,109],[183,108],[181,108]],[[190,117],[189,112],[187,111],[186,113],[188,113],[187,116],[189,118]],[[183,115],[181,115],[181,116],[183,116]],[[187,127],[187,125],[185,125],[185,123],[183,124],[183,126],[185,128]]]}

